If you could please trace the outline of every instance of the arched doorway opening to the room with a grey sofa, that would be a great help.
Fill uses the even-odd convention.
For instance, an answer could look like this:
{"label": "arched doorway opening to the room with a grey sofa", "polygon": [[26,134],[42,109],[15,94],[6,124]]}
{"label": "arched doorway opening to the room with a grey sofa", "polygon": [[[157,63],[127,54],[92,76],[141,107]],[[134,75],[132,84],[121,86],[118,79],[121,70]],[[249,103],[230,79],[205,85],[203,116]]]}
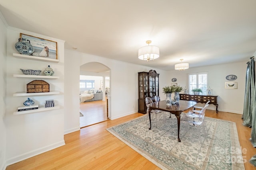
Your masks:
{"label": "arched doorway opening to the room with a grey sofa", "polygon": [[[81,81],[81,76],[86,76],[82,79],[90,81]],[[88,86],[85,86],[86,84],[81,86],[81,82],[91,83],[87,84]],[[105,92],[110,89],[110,68],[104,64],[91,62],[80,66],[80,94],[92,89],[94,89],[93,93],[101,91],[102,98],[98,98],[97,93],[95,98],[80,102],[80,128],[109,120],[111,101],[110,96]]]}

